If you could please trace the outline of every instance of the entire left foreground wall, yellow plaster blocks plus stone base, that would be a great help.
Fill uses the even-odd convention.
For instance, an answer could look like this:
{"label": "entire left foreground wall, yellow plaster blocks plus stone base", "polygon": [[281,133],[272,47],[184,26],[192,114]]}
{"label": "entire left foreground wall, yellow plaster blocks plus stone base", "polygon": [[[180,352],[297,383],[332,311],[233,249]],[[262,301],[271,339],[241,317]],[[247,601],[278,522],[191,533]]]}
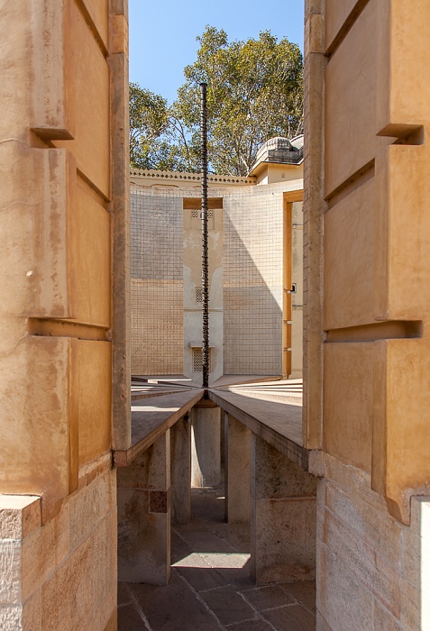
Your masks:
{"label": "entire left foreground wall, yellow plaster blocks plus stone base", "polygon": [[113,629],[126,3],[17,0],[2,24],[0,626]]}

